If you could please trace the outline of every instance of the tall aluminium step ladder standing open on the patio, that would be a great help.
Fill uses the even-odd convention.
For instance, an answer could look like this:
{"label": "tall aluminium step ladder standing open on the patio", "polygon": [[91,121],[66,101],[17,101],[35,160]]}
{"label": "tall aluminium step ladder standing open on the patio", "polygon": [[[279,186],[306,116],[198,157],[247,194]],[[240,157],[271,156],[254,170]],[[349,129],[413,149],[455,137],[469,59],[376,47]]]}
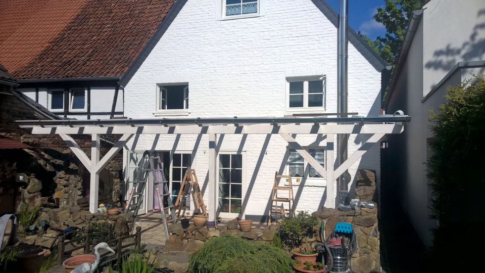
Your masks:
{"label": "tall aluminium step ladder standing open on the patio", "polygon": [[[170,191],[168,189],[168,181],[163,174],[163,163],[158,156],[158,153],[154,153],[152,156],[149,151],[143,153],[143,157],[138,162],[138,166],[133,172],[133,188],[131,189],[128,201],[126,202],[125,213],[133,212],[133,223],[138,216],[138,210],[143,202],[143,193],[147,186],[150,173],[153,177],[153,184],[155,186],[156,195],[160,204],[160,213],[162,214],[163,229],[165,238],[168,240],[168,219],[167,214],[170,214],[171,221],[176,221],[175,210],[172,204],[172,198],[170,198]],[[160,192],[159,185],[163,186],[163,191]],[[167,206],[164,207],[164,200],[167,201]],[[134,224],[133,224],[134,228]]]}

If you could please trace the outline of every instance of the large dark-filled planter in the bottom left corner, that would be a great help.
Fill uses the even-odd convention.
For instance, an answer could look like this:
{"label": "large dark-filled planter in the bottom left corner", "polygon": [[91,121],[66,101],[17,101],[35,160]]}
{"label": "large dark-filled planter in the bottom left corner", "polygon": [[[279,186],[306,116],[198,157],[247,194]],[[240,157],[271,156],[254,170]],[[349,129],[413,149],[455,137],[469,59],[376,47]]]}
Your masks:
{"label": "large dark-filled planter in the bottom left corner", "polygon": [[6,272],[36,273],[44,261],[46,249],[27,250],[15,255],[15,262],[8,263]]}

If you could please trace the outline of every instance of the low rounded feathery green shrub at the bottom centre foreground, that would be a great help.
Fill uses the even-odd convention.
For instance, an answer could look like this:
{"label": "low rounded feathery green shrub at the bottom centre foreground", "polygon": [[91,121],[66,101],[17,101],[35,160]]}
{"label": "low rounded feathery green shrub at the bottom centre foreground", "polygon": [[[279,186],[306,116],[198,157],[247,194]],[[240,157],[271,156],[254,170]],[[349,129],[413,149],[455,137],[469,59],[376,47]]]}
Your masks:
{"label": "low rounded feathery green shrub at the bottom centre foreground", "polygon": [[193,273],[293,272],[292,264],[281,249],[227,235],[210,239],[189,256],[189,271]]}

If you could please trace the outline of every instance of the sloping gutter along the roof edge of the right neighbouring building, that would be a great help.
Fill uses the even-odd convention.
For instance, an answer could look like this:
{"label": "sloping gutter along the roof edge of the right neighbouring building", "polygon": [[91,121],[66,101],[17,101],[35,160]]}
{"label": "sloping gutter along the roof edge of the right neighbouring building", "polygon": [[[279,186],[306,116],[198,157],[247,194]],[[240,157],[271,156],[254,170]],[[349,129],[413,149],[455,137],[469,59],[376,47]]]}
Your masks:
{"label": "sloping gutter along the roof edge of the right neighbouring building", "polygon": [[394,69],[391,78],[391,84],[389,85],[389,90],[387,90],[387,95],[385,97],[384,109],[387,108],[387,104],[389,104],[389,100],[393,95],[393,90],[394,87],[396,87],[398,76],[403,69],[404,63],[406,62],[406,57],[408,56],[409,49],[411,48],[414,34],[416,34],[416,28],[418,27],[422,17],[423,9],[415,10],[411,14],[411,20],[409,20],[408,30],[406,31],[406,35],[404,36],[404,40],[401,45],[401,50],[399,52],[398,62],[396,64],[396,68]]}

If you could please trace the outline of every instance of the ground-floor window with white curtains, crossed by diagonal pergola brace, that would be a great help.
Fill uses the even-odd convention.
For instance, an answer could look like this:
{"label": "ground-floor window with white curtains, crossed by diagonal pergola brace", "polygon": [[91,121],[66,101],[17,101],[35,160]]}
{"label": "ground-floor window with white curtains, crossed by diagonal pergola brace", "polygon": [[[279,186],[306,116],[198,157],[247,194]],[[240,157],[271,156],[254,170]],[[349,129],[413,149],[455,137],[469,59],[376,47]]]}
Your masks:
{"label": "ground-floor window with white curtains, crossed by diagonal pergola brace", "polygon": [[[325,167],[325,149],[305,148],[305,150],[322,166]],[[305,167],[308,168],[309,178],[322,178],[322,176],[294,149],[288,151],[288,169],[292,177],[304,177]]]}

